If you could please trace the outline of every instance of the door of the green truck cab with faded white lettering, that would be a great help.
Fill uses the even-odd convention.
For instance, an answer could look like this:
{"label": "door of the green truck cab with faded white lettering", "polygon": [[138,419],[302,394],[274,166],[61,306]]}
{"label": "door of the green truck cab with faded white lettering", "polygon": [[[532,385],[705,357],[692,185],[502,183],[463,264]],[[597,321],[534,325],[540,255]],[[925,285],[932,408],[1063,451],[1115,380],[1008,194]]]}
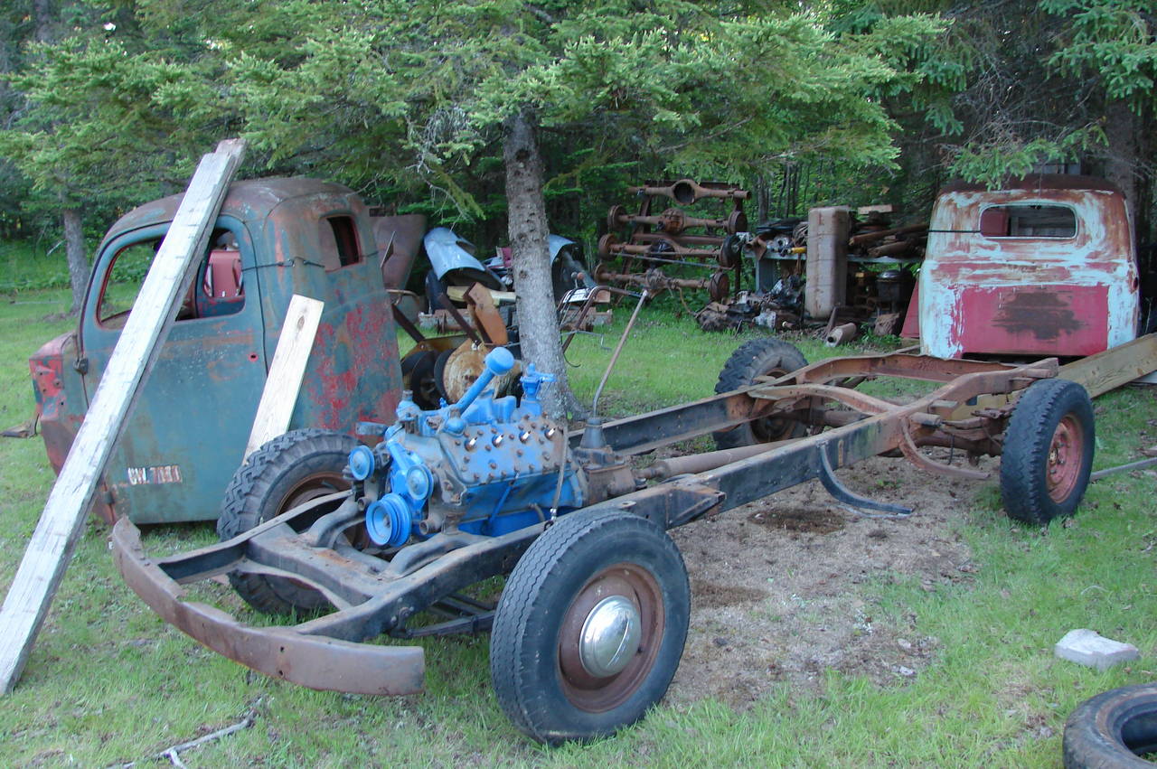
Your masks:
{"label": "door of the green truck cab with faded white lettering", "polygon": [[[167,227],[145,227],[109,242],[97,258],[94,283],[103,283],[118,251],[155,239]],[[243,274],[251,273],[255,251],[245,227],[228,216],[219,219],[218,227],[237,237]],[[237,312],[174,323],[109,459],[105,480],[118,515],[135,523],[216,517],[224,488],[241,464],[265,382],[253,282]],[[81,318],[89,395],[120,338],[120,328],[102,324],[94,305],[87,303]]]}

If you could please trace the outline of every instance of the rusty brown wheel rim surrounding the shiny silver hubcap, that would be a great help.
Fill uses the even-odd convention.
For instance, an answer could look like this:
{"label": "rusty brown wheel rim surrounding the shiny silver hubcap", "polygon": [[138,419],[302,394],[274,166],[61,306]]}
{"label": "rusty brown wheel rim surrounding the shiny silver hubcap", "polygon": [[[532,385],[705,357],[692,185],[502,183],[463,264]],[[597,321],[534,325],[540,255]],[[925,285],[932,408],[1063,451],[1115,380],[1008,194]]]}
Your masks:
{"label": "rusty brown wheel rim surrounding the shiny silver hubcap", "polygon": [[[598,676],[583,664],[582,638],[588,620],[607,599],[624,599],[639,618],[638,649],[625,666]],[[617,563],[595,575],[570,602],[559,633],[558,660],[562,693],[573,705],[603,712],[631,698],[658,656],[665,627],[663,592],[655,577],[634,563]]]}

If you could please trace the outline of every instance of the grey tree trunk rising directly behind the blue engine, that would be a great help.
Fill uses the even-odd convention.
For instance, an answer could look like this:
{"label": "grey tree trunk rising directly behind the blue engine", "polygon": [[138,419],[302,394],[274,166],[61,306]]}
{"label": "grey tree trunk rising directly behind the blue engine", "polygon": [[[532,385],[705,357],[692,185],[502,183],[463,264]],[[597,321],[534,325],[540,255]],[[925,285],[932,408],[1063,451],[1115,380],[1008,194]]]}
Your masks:
{"label": "grey tree trunk rising directly behind the blue engine", "polygon": [[507,119],[503,130],[507,215],[522,358],[533,362],[539,371],[555,376],[555,383],[543,390],[543,405],[552,417],[565,419],[568,411],[578,411],[578,404],[567,383],[559,320],[554,315],[543,157],[538,151],[533,117],[528,111]]}

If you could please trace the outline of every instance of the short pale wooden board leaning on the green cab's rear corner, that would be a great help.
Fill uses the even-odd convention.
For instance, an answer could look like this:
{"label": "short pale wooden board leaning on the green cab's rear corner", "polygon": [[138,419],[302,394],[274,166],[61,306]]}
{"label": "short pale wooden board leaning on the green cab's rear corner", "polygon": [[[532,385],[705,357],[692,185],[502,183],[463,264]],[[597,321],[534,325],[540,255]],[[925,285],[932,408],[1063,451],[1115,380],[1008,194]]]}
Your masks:
{"label": "short pale wooden board leaning on the green cab's rear corner", "polygon": [[281,324],[281,337],[278,338],[278,349],[273,353],[265,390],[257,404],[253,429],[249,434],[242,463],[245,457],[260,449],[263,443],[289,429],[289,417],[297,404],[301,378],[305,375],[305,364],[314,349],[314,338],[317,335],[317,324],[322,320],[324,306],[325,302],[301,294],[294,294],[289,300],[286,320]]}

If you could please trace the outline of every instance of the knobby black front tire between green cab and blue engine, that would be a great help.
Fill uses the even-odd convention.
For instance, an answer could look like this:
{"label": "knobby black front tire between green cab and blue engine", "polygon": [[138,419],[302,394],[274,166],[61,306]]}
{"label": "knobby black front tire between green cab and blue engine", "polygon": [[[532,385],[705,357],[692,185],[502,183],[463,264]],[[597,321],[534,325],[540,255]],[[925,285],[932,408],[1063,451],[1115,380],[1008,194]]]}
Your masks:
{"label": "knobby black front tire between green cab and blue engine", "polygon": [[[218,537],[233,539],[304,502],[310,496],[349,488],[341,471],[358,441],[330,430],[290,430],[249,454],[226,488]],[[282,577],[229,575],[245,601],[266,614],[314,612],[330,602],[316,590]]]}

